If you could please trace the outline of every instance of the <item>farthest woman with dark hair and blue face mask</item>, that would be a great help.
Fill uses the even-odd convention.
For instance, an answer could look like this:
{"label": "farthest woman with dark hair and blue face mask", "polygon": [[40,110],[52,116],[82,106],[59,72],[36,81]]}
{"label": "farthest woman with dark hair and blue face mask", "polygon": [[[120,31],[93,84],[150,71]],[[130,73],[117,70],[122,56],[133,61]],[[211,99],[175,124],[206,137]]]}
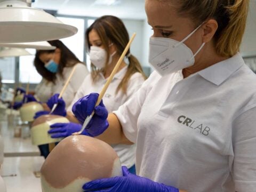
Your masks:
{"label": "farthest woman with dark hair and blue face mask", "polygon": [[[34,65],[38,73],[42,75],[47,82],[47,85],[52,83],[52,85],[49,85],[52,86],[51,95],[61,92],[71,70],[76,66],[75,73],[71,78],[66,91],[62,95],[62,98],[68,106],[74,99],[79,86],[81,86],[84,78],[89,74],[89,72],[86,65],[82,61],[79,61],[75,54],[72,53],[61,41],[54,40],[49,41],[49,43],[52,46],[57,47],[57,49],[38,50],[36,52]],[[45,94],[49,95],[48,92]]]}

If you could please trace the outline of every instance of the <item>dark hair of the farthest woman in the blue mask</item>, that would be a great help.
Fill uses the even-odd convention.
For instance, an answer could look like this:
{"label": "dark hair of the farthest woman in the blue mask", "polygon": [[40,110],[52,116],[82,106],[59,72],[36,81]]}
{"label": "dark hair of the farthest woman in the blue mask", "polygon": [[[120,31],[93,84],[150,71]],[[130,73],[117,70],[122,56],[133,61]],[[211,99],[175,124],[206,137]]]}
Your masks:
{"label": "dark hair of the farthest woman in the blue mask", "polygon": [[[60,63],[58,66],[58,74],[63,76],[63,68],[64,67],[73,67],[77,63],[83,63],[80,61],[76,55],[71,52],[66,45],[64,45],[61,41],[59,40],[53,40],[53,41],[48,41],[52,46],[57,47],[60,49]],[[36,67],[37,72],[46,80],[51,81],[54,83],[56,79],[56,74],[51,73],[49,70],[47,70],[44,67],[44,63],[39,59],[39,56],[42,53],[54,53],[55,50],[37,50],[36,51],[36,57],[34,60],[34,65]]]}

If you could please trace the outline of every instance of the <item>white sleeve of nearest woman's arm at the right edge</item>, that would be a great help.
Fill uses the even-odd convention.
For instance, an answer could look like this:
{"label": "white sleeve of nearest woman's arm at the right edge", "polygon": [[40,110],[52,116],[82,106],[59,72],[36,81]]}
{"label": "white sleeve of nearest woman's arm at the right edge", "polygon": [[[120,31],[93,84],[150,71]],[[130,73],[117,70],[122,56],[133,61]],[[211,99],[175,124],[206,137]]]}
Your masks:
{"label": "white sleeve of nearest woman's arm at the right edge", "polygon": [[239,115],[233,124],[234,162],[231,169],[236,191],[256,189],[256,107]]}

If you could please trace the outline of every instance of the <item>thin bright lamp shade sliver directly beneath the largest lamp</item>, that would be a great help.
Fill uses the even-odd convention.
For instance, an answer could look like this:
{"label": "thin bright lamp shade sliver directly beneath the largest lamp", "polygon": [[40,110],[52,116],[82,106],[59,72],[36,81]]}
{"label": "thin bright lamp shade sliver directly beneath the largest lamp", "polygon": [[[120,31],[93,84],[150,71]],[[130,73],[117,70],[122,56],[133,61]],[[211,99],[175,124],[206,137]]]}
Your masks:
{"label": "thin bright lamp shade sliver directly beneath the largest lamp", "polygon": [[37,49],[37,50],[55,50],[56,47],[52,46],[50,43],[44,42],[31,42],[31,43],[0,43],[3,47],[15,47],[15,48],[27,48],[27,49]]}

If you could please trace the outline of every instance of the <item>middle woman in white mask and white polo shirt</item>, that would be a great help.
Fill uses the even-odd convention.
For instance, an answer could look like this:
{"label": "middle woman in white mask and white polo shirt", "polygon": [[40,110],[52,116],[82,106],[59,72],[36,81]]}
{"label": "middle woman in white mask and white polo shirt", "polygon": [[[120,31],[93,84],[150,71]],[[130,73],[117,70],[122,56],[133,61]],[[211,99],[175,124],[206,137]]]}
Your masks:
{"label": "middle woman in white mask and white polo shirt", "polygon": [[[102,90],[126,44],[129,42],[129,34],[120,19],[113,16],[104,16],[95,20],[86,30],[86,40],[87,49],[90,51],[92,72],[84,79],[72,105],[68,108],[67,117],[73,122],[78,121],[71,112],[71,107],[84,95],[91,92],[99,93]],[[130,99],[146,78],[139,61],[130,53],[130,50],[127,52],[126,58],[129,63],[124,61],[121,63],[103,97],[109,113],[117,110],[119,106]],[[54,97],[56,98],[57,95]],[[52,100],[54,100],[54,97]],[[62,114],[65,114],[65,111]],[[74,123],[55,124],[52,127],[59,128],[50,131],[50,133],[53,133],[52,137],[67,137],[75,130],[80,131],[81,129],[81,125]],[[120,157],[122,165],[127,166],[135,174],[135,145],[124,144],[112,145],[112,147]]]}

